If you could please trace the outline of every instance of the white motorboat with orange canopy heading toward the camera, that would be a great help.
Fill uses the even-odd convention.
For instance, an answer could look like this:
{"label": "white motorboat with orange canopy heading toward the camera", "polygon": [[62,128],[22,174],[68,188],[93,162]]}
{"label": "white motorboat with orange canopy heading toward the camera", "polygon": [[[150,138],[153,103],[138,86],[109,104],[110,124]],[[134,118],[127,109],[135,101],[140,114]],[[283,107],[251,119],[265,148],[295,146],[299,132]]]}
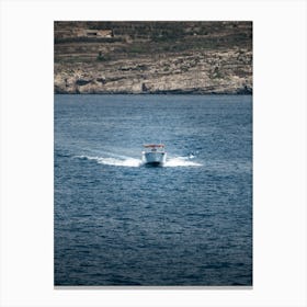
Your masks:
{"label": "white motorboat with orange canopy heading toward the camera", "polygon": [[167,161],[166,146],[163,144],[146,144],[141,152],[141,160],[147,166],[162,167]]}

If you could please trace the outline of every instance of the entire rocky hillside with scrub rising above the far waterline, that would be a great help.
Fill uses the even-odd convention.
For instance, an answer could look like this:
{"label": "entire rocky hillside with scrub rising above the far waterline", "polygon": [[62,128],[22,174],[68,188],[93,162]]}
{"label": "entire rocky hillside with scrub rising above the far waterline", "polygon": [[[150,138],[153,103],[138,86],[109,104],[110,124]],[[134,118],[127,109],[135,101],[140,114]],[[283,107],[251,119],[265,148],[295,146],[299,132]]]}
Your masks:
{"label": "entire rocky hillside with scrub rising above the far waterline", "polygon": [[55,93],[252,93],[251,31],[250,22],[56,22]]}

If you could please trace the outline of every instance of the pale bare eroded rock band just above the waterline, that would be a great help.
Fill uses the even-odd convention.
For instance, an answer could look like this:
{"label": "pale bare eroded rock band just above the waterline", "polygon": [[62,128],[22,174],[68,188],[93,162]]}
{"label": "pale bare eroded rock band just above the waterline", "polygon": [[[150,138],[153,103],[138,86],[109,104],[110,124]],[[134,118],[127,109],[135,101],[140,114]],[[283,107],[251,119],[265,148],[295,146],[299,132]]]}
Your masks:
{"label": "pale bare eroded rock band just above the waterline", "polygon": [[251,93],[249,50],[55,64],[56,93]]}

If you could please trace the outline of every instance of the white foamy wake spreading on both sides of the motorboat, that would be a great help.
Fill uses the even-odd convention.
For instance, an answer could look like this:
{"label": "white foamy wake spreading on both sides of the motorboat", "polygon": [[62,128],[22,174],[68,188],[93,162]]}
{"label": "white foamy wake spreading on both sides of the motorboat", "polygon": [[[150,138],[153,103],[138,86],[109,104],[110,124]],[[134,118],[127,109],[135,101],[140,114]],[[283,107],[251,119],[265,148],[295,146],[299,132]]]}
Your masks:
{"label": "white foamy wake spreading on both sides of the motorboat", "polygon": [[[139,168],[139,167],[144,166],[141,159],[135,159],[135,158],[129,158],[129,157],[103,158],[103,157],[77,156],[76,158],[79,158],[82,160],[93,160],[99,164],[114,166],[114,167]],[[163,164],[163,167],[164,168],[202,167],[201,163],[194,162],[191,159],[192,159],[191,157],[168,158],[167,162]]]}

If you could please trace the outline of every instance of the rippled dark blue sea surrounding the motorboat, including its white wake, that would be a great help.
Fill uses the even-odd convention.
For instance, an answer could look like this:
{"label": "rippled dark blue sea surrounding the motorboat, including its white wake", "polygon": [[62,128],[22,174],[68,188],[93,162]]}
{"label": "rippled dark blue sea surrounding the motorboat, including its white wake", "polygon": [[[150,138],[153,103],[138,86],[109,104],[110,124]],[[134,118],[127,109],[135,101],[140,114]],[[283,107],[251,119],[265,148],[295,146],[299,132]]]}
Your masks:
{"label": "rippled dark blue sea surrounding the motorboat, including its white wake", "polygon": [[55,285],[252,285],[252,96],[55,95],[54,117]]}

